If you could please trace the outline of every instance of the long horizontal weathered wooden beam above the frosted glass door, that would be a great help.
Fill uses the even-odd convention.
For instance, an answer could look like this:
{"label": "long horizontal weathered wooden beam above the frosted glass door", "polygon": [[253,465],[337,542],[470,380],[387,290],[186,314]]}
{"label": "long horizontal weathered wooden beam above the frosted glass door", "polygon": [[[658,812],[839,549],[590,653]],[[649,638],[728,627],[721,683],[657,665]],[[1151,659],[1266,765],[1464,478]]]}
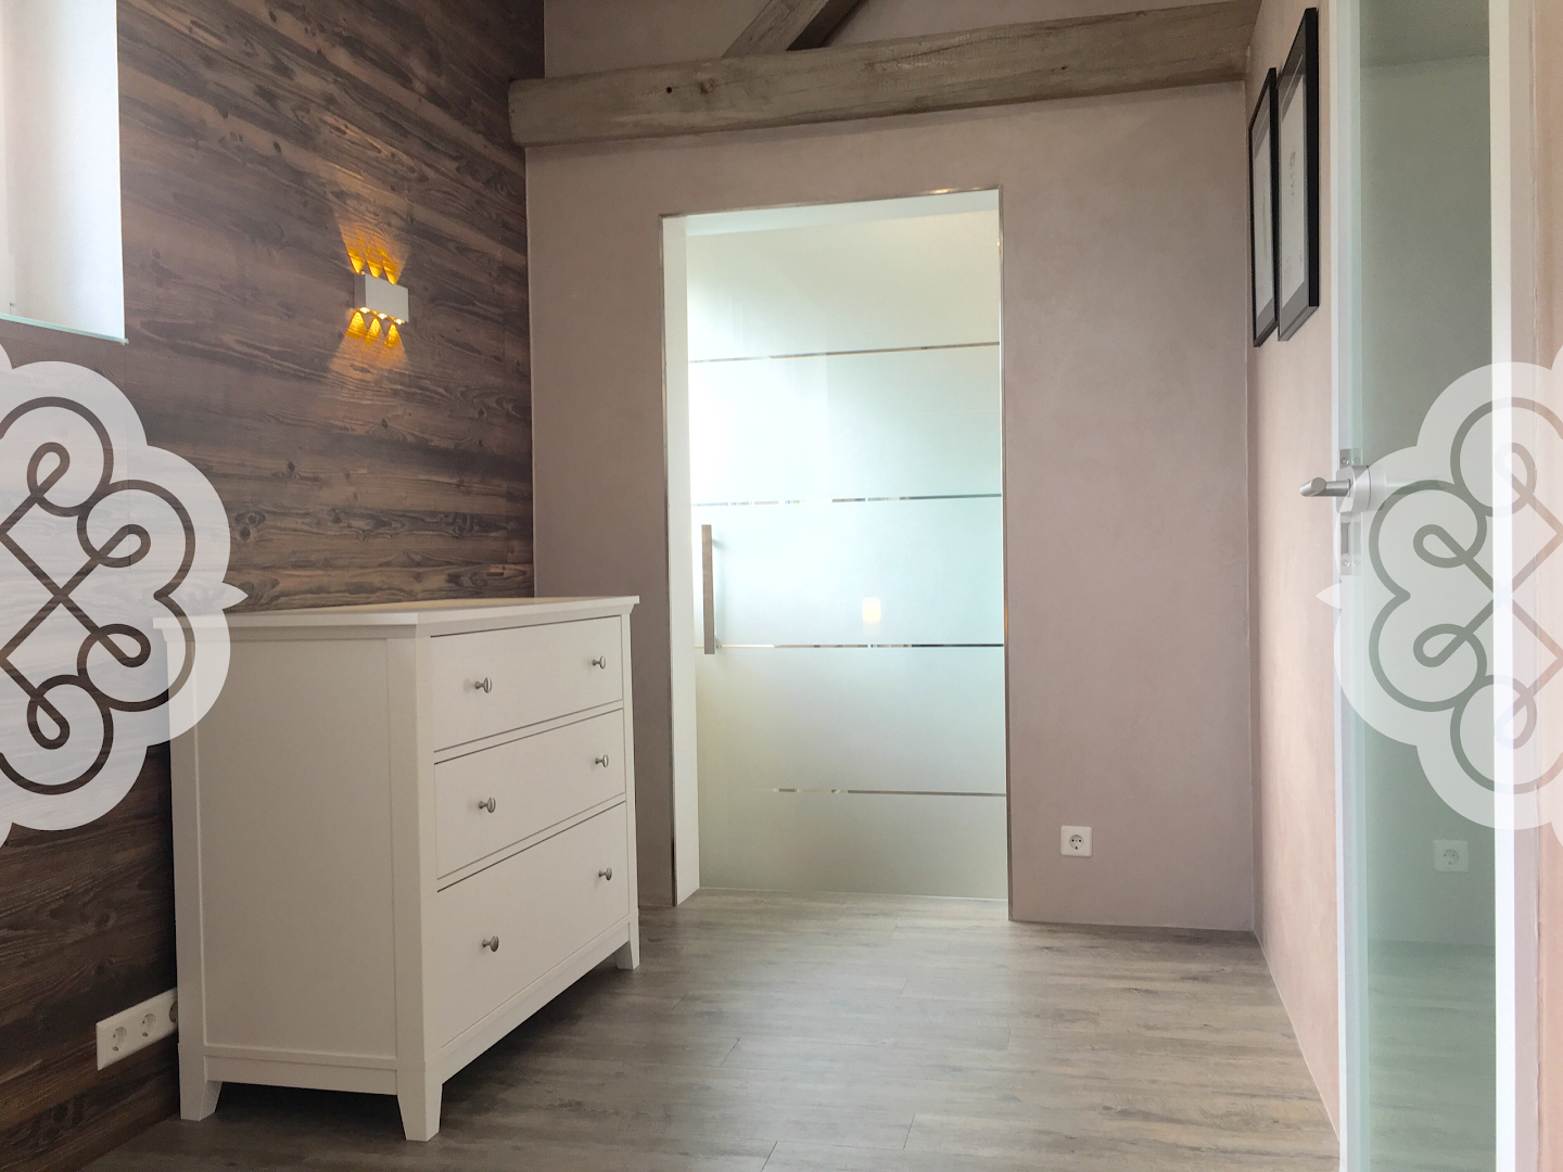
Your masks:
{"label": "long horizontal weathered wooden beam above the frosted glass door", "polygon": [[524,147],[1238,81],[1260,0],[514,81]]}

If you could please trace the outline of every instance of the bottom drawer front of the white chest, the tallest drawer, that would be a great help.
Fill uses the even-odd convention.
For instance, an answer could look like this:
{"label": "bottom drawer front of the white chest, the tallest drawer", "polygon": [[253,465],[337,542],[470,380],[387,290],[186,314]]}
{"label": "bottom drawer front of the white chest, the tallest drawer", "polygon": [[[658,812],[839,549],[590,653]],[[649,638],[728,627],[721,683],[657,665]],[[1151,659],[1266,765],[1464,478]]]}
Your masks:
{"label": "bottom drawer front of the white chest, the tallest drawer", "polygon": [[614,806],[435,897],[439,1045],[630,914],[625,831]]}

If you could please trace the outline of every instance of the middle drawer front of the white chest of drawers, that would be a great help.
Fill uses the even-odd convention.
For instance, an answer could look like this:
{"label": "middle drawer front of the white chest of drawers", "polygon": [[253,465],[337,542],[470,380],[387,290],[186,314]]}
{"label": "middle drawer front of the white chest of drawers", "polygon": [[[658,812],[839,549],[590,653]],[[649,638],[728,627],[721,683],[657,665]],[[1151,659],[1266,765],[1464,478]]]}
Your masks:
{"label": "middle drawer front of the white chest of drawers", "polygon": [[449,875],[622,792],[622,711],[442,761],[438,870]]}

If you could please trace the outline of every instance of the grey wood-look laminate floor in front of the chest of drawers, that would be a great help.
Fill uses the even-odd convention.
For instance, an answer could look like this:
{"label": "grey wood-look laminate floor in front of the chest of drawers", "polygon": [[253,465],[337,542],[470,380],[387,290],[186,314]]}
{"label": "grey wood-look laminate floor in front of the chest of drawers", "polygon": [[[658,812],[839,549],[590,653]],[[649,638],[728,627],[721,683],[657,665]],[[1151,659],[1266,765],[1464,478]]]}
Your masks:
{"label": "grey wood-look laminate floor in front of the chest of drawers", "polygon": [[1333,1172],[1246,936],[1010,924],[1003,905],[702,892],[445,1084],[228,1086],[95,1172]]}

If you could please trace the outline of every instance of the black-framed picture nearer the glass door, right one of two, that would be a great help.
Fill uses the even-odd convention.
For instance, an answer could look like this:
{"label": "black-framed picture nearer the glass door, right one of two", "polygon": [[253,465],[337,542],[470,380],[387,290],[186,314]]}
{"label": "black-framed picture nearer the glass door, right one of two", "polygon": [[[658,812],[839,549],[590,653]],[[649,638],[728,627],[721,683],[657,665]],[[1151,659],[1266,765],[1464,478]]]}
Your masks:
{"label": "black-framed picture nearer the glass door, right one of two", "polygon": [[1302,14],[1275,78],[1277,328],[1291,338],[1319,308],[1319,9]]}

